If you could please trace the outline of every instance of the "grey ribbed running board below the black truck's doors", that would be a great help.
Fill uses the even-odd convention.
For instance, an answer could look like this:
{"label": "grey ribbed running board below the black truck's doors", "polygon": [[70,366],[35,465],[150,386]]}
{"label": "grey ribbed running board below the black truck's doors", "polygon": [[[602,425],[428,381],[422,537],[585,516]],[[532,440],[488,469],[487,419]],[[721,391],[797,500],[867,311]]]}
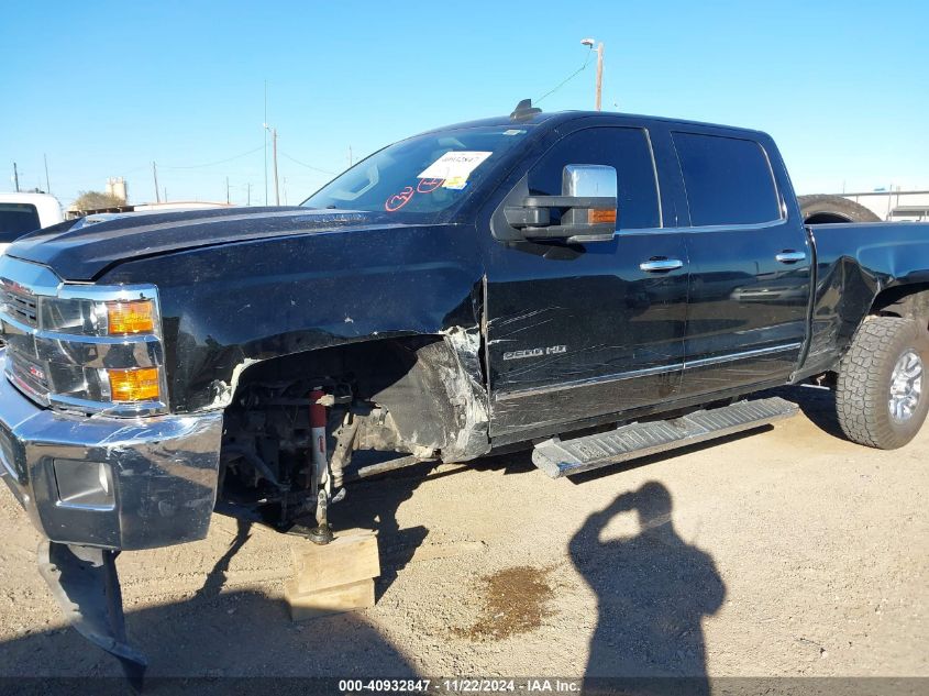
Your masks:
{"label": "grey ribbed running board below the black truck's doors", "polygon": [[796,404],[772,397],[696,411],[673,420],[631,423],[573,440],[555,437],[535,445],[532,463],[552,478],[573,476],[751,430],[796,416],[798,410]]}

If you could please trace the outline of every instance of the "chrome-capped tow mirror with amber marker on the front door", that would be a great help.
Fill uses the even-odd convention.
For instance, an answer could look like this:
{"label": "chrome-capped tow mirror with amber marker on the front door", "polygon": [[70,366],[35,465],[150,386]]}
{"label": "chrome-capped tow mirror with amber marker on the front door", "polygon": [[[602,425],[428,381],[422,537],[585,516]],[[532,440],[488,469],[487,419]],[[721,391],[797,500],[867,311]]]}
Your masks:
{"label": "chrome-capped tow mirror with amber marker on the front door", "polygon": [[607,242],[616,232],[616,200],[615,168],[569,164],[562,170],[561,196],[528,196],[504,213],[527,239]]}

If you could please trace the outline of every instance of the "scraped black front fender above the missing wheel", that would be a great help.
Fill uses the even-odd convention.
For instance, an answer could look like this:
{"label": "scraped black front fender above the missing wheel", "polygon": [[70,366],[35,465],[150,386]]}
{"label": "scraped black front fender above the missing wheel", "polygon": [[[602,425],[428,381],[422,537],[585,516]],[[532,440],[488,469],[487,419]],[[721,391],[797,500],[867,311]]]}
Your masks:
{"label": "scraped black front fender above the missing wheel", "polygon": [[256,361],[478,330],[474,236],[467,225],[350,227],[131,261],[100,281],[157,283],[172,410],[191,412],[228,404]]}

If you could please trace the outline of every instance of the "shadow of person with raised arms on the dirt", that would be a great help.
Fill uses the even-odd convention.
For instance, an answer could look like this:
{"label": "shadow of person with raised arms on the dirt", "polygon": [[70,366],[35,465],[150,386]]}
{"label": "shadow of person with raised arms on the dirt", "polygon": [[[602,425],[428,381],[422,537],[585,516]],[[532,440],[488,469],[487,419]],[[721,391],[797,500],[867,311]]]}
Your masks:
{"label": "shadow of person with raised arms on the dirt", "polygon": [[[631,511],[637,535],[600,541],[613,517]],[[673,693],[673,683],[653,678],[681,677],[685,693],[709,694],[701,621],[719,609],[726,586],[712,557],[675,531],[667,488],[649,482],[620,495],[587,518],[569,551],[599,606],[585,693],[617,677],[641,678],[637,693]]]}

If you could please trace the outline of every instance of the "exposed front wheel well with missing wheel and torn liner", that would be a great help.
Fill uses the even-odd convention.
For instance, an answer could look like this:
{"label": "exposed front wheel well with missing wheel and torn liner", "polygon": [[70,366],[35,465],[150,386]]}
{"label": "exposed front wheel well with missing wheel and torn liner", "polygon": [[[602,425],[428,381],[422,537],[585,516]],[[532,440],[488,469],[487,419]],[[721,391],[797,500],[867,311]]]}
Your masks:
{"label": "exposed front wheel well with missing wheel and torn liner", "polygon": [[[479,345],[476,331],[454,330],[253,363],[224,411],[220,501],[286,524],[330,494],[341,499],[353,452],[442,461],[485,454]],[[320,506],[324,515],[328,502]]]}

